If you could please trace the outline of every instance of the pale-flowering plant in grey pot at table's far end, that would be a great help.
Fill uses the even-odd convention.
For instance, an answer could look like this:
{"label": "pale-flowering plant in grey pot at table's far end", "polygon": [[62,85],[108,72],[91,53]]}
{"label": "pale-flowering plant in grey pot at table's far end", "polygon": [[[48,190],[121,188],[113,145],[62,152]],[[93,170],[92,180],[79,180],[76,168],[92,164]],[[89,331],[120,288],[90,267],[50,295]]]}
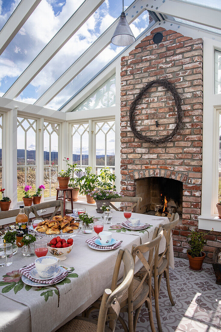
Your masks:
{"label": "pale-flowering plant in grey pot at table's far end", "polygon": [[111,199],[112,198],[119,198],[121,197],[121,195],[116,192],[115,190],[111,189],[103,189],[103,188],[95,188],[95,190],[93,190],[91,193],[90,193],[91,196],[94,197],[95,199],[95,202],[97,204],[97,209],[96,211],[98,213],[103,213],[101,207],[102,205],[106,205],[106,206],[109,206],[110,205],[110,202],[111,202]]}

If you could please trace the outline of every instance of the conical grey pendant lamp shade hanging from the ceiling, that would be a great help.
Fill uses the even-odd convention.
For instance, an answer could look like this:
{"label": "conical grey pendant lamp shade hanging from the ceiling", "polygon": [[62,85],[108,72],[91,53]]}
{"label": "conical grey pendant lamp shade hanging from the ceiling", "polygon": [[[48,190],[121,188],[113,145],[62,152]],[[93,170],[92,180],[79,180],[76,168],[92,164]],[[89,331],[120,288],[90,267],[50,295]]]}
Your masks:
{"label": "conical grey pendant lamp shade hanging from the ceiling", "polygon": [[135,41],[135,37],[129,27],[124,12],[120,15],[120,20],[111,38],[111,42],[117,46],[128,46]]}

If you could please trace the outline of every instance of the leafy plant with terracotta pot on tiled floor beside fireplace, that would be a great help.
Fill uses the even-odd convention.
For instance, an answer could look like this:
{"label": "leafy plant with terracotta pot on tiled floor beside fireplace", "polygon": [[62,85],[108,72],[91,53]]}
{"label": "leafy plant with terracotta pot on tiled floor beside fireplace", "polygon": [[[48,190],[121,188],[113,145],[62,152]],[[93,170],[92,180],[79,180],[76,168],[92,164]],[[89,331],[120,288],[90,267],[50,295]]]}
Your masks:
{"label": "leafy plant with terracotta pot on tiled floor beside fireplace", "polygon": [[[189,267],[193,271],[200,271],[202,268],[202,263],[205,258],[205,253],[202,251],[203,247],[206,245],[207,240],[205,236],[207,234],[203,232],[197,232],[193,227],[189,228],[191,233],[187,238],[187,242],[190,245],[190,249],[187,250],[187,257],[189,259]],[[212,228],[213,230],[213,228]]]}

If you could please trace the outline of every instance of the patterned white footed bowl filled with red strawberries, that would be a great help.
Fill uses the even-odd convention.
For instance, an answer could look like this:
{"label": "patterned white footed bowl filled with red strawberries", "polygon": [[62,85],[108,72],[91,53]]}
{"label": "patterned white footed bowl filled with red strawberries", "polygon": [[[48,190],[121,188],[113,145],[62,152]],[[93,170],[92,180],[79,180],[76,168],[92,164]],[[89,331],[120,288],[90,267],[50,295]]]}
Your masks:
{"label": "patterned white footed bowl filled with red strawberries", "polygon": [[53,237],[48,242],[48,251],[53,256],[59,256],[61,261],[65,260],[73,247],[73,238],[67,240],[61,239],[60,236]]}

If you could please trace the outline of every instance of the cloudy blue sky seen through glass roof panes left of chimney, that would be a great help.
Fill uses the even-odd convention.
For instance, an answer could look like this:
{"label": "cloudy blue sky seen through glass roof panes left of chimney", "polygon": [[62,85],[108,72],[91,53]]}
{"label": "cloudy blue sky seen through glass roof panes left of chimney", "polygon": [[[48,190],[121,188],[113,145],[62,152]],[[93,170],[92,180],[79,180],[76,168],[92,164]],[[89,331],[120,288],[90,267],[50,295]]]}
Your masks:
{"label": "cloudy blue sky seen through glass roof panes left of chimney", "polygon": [[[83,0],[41,0],[0,56],[0,96],[16,81],[82,2]],[[3,27],[18,3],[19,0],[0,0],[0,28]],[[125,8],[131,3],[132,0],[125,0]],[[16,99],[33,104],[115,21],[122,11],[121,6],[119,0],[106,0]],[[148,24],[149,16],[145,11],[130,25],[134,36],[138,36],[148,27]],[[62,106],[122,49],[122,47],[112,44],[106,47],[47,107],[58,109]]]}

